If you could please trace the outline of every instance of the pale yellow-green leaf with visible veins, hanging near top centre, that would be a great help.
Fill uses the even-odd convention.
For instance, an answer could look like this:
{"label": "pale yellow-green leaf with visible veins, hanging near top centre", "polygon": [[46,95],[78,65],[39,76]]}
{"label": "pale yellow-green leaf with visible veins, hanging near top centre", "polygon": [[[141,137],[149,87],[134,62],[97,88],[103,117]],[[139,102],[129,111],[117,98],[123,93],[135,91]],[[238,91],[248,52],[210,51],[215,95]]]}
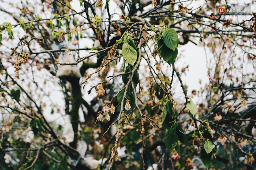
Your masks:
{"label": "pale yellow-green leaf with visible veins, hanging near top centre", "polygon": [[130,46],[127,42],[122,45],[122,55],[124,59],[131,64],[134,65],[137,60],[137,51],[132,46]]}

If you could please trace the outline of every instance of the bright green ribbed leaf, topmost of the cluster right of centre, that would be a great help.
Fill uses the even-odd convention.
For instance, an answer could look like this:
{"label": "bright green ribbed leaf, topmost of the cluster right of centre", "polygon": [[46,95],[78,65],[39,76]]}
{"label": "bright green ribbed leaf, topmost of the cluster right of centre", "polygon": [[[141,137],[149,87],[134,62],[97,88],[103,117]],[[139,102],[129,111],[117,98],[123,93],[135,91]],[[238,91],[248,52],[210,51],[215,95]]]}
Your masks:
{"label": "bright green ribbed leaf, topmost of the cluster right of centre", "polygon": [[176,31],[172,28],[167,28],[163,32],[163,41],[168,48],[174,51],[176,46],[178,45],[178,35]]}

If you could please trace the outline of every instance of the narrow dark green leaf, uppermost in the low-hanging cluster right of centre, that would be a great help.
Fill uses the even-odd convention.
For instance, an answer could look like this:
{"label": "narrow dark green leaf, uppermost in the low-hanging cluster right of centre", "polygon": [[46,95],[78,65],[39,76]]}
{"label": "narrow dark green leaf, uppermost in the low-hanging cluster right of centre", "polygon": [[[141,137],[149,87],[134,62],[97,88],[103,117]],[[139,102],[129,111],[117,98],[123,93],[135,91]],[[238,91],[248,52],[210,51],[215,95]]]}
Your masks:
{"label": "narrow dark green leaf, uppermost in the low-hanging cluster right of centre", "polygon": [[173,113],[173,103],[168,101],[163,108],[163,118],[162,118],[162,126],[164,129],[171,128],[172,123],[174,121],[174,113]]}

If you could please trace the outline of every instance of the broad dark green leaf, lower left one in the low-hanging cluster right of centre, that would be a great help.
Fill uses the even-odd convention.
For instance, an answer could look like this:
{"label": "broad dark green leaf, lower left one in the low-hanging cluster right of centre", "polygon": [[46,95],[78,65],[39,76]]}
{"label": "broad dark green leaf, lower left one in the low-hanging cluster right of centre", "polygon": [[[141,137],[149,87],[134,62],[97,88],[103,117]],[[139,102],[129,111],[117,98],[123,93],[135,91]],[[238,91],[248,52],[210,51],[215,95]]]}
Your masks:
{"label": "broad dark green leaf, lower left one in the low-hanging cluster right of centre", "polygon": [[173,149],[178,145],[178,135],[176,133],[176,128],[169,128],[168,132],[165,134],[165,146],[171,153]]}

